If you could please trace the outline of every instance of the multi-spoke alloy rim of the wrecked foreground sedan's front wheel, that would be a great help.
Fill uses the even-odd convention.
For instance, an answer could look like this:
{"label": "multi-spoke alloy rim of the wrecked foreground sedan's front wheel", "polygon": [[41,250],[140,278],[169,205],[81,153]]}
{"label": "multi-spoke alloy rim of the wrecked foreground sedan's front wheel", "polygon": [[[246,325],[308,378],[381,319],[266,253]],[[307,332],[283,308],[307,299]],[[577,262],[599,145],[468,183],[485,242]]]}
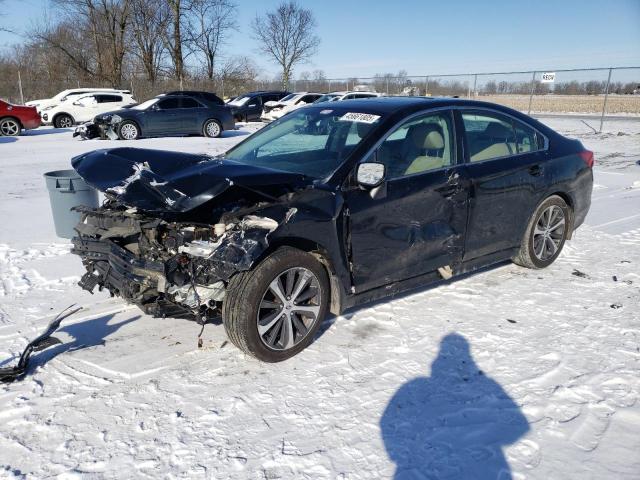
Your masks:
{"label": "multi-spoke alloy rim of the wrecked foreground sedan's front wheel", "polygon": [[280,273],[258,307],[260,340],[272,350],[295,347],[318,321],[320,305],[320,282],[313,272],[296,267]]}

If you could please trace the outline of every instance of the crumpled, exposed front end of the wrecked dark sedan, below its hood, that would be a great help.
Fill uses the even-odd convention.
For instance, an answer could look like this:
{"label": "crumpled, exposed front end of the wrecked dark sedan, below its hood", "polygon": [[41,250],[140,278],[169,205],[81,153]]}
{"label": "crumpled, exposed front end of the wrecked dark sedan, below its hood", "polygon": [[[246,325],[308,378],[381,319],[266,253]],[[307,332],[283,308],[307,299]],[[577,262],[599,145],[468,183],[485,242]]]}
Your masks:
{"label": "crumpled, exposed front end of the wrecked dark sedan, below its hood", "polygon": [[279,226],[256,215],[214,225],[169,222],[113,202],[79,210],[72,252],[87,270],[79,285],[107,289],[154,316],[212,314],[229,278],[251,268]]}

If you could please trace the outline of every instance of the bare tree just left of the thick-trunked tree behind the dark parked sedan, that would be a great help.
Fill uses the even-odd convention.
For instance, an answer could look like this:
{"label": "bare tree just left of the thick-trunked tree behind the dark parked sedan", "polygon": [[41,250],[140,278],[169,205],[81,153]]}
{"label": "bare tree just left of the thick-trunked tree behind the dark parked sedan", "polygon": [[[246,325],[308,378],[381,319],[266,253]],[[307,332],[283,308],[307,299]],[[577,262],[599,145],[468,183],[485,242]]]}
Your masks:
{"label": "bare tree just left of the thick-trunked tree behind the dark parked sedan", "polygon": [[162,39],[169,24],[169,9],[166,2],[132,0],[131,17],[132,35],[137,45],[135,55],[153,86],[165,52]]}

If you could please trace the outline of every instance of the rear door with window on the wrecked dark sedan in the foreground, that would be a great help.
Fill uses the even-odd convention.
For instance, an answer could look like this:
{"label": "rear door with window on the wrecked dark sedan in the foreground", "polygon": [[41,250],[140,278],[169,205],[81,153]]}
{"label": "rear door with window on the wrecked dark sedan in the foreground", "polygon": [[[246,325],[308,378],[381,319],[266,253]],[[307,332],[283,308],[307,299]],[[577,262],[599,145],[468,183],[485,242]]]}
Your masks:
{"label": "rear door with window on the wrecked dark sedan in the foreground", "polygon": [[462,109],[465,161],[471,181],[465,260],[520,244],[544,190],[544,137],[489,109]]}

